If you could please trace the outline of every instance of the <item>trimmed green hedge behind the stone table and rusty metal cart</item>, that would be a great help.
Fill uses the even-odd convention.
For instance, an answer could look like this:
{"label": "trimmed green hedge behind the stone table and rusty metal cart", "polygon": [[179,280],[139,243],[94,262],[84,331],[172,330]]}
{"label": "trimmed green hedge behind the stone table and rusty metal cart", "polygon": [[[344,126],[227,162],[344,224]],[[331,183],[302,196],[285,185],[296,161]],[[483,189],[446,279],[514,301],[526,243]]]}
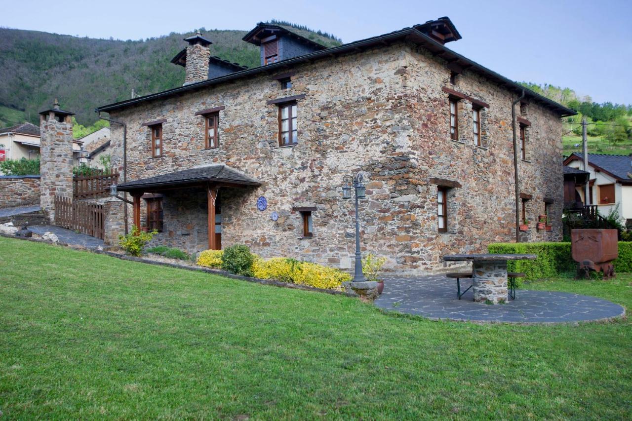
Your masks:
{"label": "trimmed green hedge behind the stone table and rusty metal cart", "polygon": [[[518,278],[534,281],[552,278],[577,270],[577,263],[571,255],[571,243],[493,243],[487,247],[490,253],[535,254],[535,260],[511,260],[507,271],[523,272],[526,277]],[[619,241],[619,258],[614,260],[616,272],[632,272],[632,241]]]}

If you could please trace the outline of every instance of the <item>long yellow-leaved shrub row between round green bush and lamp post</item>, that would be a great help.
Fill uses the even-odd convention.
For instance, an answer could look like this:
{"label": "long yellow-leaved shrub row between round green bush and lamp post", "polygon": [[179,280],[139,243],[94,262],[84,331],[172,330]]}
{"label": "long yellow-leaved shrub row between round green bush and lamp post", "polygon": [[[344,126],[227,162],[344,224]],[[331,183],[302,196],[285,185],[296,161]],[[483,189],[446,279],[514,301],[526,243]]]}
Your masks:
{"label": "long yellow-leaved shrub row between round green bush and lamp post", "polygon": [[327,290],[336,290],[344,281],[351,280],[349,274],[338,269],[283,257],[273,257],[269,260],[255,259],[252,264],[252,273],[255,278],[278,279],[282,282]]}

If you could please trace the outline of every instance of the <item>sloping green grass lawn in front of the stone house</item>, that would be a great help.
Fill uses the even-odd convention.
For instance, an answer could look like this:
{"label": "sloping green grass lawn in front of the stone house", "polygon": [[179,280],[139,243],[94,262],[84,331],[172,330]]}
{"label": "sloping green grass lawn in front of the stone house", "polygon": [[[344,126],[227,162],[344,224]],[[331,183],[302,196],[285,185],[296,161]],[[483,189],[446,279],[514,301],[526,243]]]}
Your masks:
{"label": "sloping green grass lawn in front of the stone house", "polygon": [[[478,325],[0,237],[13,418],[630,418],[628,320]],[[630,308],[632,275],[557,280]]]}

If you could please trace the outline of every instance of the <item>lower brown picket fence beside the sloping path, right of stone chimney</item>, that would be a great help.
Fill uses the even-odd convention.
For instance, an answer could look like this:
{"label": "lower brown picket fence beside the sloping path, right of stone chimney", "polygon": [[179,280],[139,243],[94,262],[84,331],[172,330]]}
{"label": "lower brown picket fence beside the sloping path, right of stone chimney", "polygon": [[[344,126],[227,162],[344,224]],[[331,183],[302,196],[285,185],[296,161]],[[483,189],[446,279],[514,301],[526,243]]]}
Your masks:
{"label": "lower brown picket fence beside the sloping path, right of stone chimney", "polygon": [[105,234],[103,205],[55,196],[55,224],[103,240]]}

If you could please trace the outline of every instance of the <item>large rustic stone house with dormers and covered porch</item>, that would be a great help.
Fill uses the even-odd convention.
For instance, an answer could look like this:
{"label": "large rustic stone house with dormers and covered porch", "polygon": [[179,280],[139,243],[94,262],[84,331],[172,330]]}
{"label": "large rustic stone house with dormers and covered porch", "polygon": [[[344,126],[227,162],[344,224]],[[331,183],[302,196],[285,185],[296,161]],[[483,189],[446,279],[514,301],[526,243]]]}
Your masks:
{"label": "large rustic stone house with dormers and covered porch", "polygon": [[[342,186],[362,171],[363,250],[401,273],[442,271],[443,255],[516,240],[521,98],[518,211],[532,221],[521,238],[561,240],[561,116],[575,113],[444,45],[458,39],[449,18],[330,48],[258,24],[244,40],[261,66],[237,70],[188,37],[174,59],[185,85],[97,108],[126,125],[118,189],[133,223],[189,252],[243,243],[348,269]],[[123,171],[122,126],[111,134]],[[543,213],[552,231],[536,230]]]}

